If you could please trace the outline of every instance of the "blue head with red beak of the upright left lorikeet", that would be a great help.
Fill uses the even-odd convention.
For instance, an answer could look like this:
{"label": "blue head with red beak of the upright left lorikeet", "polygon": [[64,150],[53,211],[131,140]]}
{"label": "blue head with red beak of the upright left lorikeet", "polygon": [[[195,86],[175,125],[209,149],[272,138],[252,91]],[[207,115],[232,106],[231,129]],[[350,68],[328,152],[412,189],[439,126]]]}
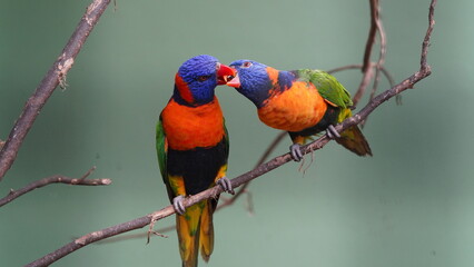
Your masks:
{"label": "blue head with red beak of the upright left lorikeet", "polygon": [[176,101],[199,106],[213,101],[214,89],[218,85],[225,85],[227,77],[233,76],[234,70],[208,55],[200,55],[186,60],[179,67],[175,77]]}

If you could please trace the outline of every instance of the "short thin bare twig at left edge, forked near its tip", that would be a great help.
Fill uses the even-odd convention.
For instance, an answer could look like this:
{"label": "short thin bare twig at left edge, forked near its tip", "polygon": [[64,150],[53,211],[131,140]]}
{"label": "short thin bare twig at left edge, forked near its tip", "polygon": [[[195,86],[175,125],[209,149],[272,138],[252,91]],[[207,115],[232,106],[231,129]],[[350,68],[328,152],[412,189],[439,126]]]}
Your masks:
{"label": "short thin bare twig at left edge, forked near its tip", "polygon": [[12,200],[29,191],[51,184],[67,184],[72,186],[108,186],[112,182],[112,180],[110,179],[86,179],[90,174],[92,174],[93,170],[96,170],[96,167],[92,167],[90,170],[88,170],[81,178],[70,178],[61,175],[56,175],[43,178],[41,180],[33,181],[18,190],[10,189],[10,192],[7,195],[7,197],[0,199],[0,207],[11,202]]}

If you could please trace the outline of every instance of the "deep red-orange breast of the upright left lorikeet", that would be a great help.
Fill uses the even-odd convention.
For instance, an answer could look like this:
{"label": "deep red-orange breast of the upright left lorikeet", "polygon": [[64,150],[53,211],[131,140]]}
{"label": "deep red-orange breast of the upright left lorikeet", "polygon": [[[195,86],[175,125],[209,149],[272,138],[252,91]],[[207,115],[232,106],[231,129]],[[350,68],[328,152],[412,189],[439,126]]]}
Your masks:
{"label": "deep red-orange breast of the upright left lorikeet", "polygon": [[199,107],[186,107],[171,100],[162,110],[161,119],[168,146],[176,150],[213,147],[225,134],[223,111],[216,97]]}

